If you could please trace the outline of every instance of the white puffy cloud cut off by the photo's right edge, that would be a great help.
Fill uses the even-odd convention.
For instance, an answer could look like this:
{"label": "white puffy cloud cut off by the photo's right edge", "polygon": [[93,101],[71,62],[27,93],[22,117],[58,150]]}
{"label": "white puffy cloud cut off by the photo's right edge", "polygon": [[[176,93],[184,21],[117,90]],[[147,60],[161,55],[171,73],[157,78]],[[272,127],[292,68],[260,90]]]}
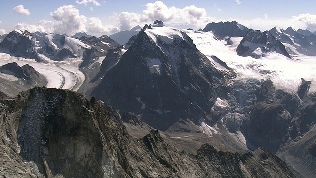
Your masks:
{"label": "white puffy cloud cut off by the photo's right edge", "polygon": [[304,29],[314,32],[316,30],[316,15],[312,14],[300,14],[299,16],[293,16],[292,20],[302,25]]}

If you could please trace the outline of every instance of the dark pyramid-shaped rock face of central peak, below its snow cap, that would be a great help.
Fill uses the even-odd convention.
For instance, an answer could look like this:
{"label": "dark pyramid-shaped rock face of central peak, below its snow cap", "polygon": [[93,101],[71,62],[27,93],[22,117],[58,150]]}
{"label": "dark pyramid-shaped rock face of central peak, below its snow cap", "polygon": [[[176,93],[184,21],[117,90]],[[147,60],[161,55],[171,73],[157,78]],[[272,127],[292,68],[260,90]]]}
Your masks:
{"label": "dark pyramid-shaped rock face of central peak, below its snow cap", "polygon": [[226,95],[224,74],[186,34],[171,43],[157,38],[156,45],[145,30],[92,95],[120,110],[142,113],[144,121],[163,130],[179,118],[210,120],[216,98]]}

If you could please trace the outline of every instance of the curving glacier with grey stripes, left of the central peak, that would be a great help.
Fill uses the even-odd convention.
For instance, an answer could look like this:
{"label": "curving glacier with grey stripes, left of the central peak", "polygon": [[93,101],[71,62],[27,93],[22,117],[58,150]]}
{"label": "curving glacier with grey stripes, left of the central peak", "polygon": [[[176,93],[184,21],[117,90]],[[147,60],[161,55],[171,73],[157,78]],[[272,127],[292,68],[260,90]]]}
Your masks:
{"label": "curving glacier with grey stripes, left of the central peak", "polygon": [[19,66],[29,64],[47,80],[48,88],[70,89],[77,91],[85,80],[84,74],[79,70],[80,58],[66,58],[64,61],[53,61],[44,55],[40,55],[43,62],[34,59],[13,57],[6,53],[0,53],[0,66],[16,62]]}

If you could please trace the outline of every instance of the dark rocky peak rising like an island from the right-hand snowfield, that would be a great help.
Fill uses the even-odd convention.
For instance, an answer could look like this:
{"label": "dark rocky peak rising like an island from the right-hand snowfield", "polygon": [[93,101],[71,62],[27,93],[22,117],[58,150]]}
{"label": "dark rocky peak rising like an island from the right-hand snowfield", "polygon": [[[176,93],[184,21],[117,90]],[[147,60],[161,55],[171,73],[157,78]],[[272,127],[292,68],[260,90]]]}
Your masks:
{"label": "dark rocky peak rising like an island from the right-hand snowfield", "polygon": [[[260,48],[260,50],[258,50]],[[238,45],[236,52],[240,56],[252,56],[260,58],[267,52],[276,51],[284,56],[291,58],[285,50],[284,45],[275,39],[269,32],[261,32],[260,30],[250,30]]]}

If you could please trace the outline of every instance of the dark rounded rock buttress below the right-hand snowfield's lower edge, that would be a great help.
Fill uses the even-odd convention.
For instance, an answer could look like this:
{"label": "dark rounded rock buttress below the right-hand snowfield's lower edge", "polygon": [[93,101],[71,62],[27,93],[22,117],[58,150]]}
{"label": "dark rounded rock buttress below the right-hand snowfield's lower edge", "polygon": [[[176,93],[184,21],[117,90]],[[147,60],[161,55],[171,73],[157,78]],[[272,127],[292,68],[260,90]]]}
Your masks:
{"label": "dark rounded rock buttress below the right-hand snowfield's lower edge", "polygon": [[300,104],[298,96],[276,90],[270,80],[262,83],[257,103],[244,125],[247,138],[257,146],[276,152],[286,142],[288,126]]}

